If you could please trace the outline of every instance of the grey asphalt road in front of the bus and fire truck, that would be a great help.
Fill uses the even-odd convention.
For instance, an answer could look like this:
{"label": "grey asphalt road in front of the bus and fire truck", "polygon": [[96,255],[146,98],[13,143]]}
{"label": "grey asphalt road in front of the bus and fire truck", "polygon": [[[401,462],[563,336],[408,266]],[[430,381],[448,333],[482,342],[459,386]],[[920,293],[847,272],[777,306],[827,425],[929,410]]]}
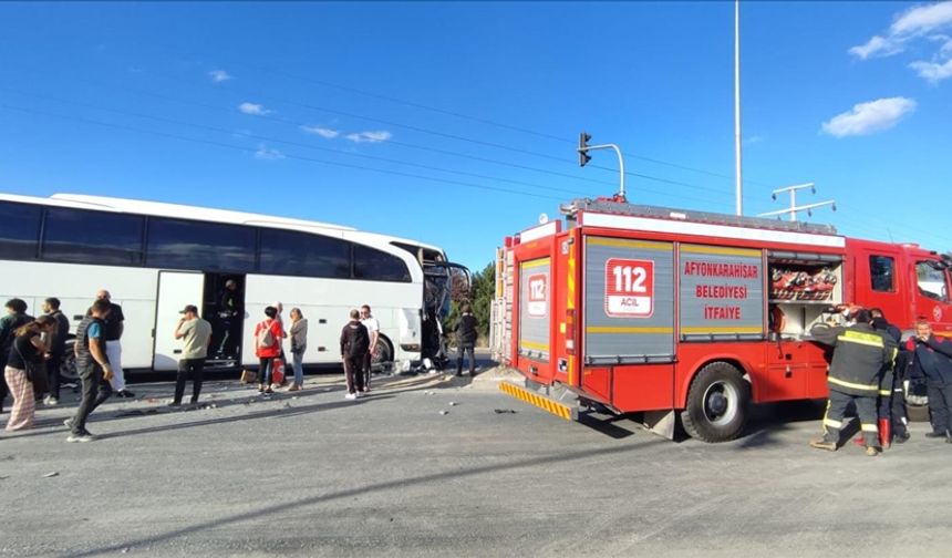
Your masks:
{"label": "grey asphalt road in front of the bus and fire truck", "polygon": [[377,381],[356,402],[335,374],[268,399],[216,380],[194,411],[142,384],[87,444],[65,443],[71,404],[40,409],[0,434],[0,556],[952,552],[952,445],[925,424],[876,458],[807,447],[806,404],[758,410],[735,442],[669,442],[559,420],[494,375]]}

